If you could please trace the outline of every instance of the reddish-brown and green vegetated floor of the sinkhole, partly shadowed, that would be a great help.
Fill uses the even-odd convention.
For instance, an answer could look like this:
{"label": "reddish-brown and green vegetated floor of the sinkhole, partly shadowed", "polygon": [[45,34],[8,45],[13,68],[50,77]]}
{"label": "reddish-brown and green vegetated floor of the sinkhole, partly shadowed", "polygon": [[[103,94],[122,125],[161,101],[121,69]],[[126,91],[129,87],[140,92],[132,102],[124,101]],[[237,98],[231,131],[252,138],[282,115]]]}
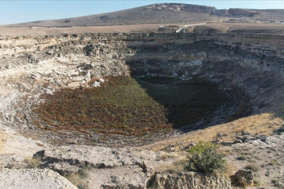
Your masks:
{"label": "reddish-brown and green vegetated floor of the sinkhole, partly shadowed", "polygon": [[36,125],[46,130],[140,136],[196,123],[226,96],[211,83],[111,76],[102,87],[63,89],[43,98],[34,112],[41,118]]}

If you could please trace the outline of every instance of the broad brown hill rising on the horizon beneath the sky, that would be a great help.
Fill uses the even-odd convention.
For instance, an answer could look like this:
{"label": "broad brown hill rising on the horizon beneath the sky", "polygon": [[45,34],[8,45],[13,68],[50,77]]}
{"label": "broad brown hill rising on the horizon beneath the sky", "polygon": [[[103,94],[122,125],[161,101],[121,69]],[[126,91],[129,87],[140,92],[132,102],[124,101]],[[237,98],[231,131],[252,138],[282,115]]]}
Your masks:
{"label": "broad brown hill rising on the horizon beneath the sky", "polygon": [[229,8],[218,10],[212,6],[198,6],[184,3],[156,3],[149,6],[141,6],[120,10],[112,13],[87,15],[77,18],[65,18],[59,20],[41,20],[25,22],[2,27],[82,27],[99,25],[137,25],[154,23],[187,23],[217,21],[222,18],[257,18],[264,20],[282,20],[284,10],[249,10]]}

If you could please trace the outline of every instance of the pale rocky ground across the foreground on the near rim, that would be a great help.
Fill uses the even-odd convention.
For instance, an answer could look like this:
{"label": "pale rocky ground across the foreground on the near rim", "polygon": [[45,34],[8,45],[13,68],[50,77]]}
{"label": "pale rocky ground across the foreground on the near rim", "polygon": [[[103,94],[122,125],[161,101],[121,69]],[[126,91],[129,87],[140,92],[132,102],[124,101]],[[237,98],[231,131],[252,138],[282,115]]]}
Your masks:
{"label": "pale rocky ground across the foreground on the near rim", "polygon": [[[283,187],[283,183],[280,182],[284,162],[284,152],[281,150],[283,136],[244,135],[242,140],[226,144],[224,151],[229,152],[226,159],[229,164],[234,163],[234,166],[238,167],[236,181],[251,186],[259,186],[261,183],[262,188]],[[29,153],[40,148],[30,141],[22,142],[27,143],[24,148],[29,148]],[[8,141],[6,143],[8,150],[1,151],[1,162],[9,168],[1,169],[0,172],[1,186],[5,188],[76,188],[60,174],[67,176],[80,170],[83,170],[86,177],[80,179],[77,185],[79,188],[234,188],[231,186],[231,181],[222,176],[179,172],[175,162],[185,158],[181,152],[76,145],[57,148],[45,146],[33,155],[34,158],[39,159],[36,167],[40,169],[33,167],[22,169],[20,167],[27,165],[21,157],[28,153],[23,154],[25,149],[16,151],[15,144],[13,141]],[[253,172],[242,169],[252,165],[249,162],[255,165],[255,168],[252,168]],[[67,178],[70,179],[68,176]],[[73,182],[74,180],[76,181],[71,179]],[[270,186],[271,181],[275,182],[276,187]]]}

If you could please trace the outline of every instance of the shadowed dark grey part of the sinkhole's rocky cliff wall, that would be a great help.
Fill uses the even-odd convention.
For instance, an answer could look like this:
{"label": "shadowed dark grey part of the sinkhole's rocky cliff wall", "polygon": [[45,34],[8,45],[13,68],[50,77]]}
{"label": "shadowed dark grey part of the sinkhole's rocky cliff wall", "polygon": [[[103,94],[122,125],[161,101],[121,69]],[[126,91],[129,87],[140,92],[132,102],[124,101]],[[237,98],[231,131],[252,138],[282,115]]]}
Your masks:
{"label": "shadowed dark grey part of the sinkhole's rocky cliff wall", "polygon": [[204,78],[224,90],[237,87],[258,111],[283,99],[283,36],[252,34],[150,34],[133,41],[126,59],[133,75]]}

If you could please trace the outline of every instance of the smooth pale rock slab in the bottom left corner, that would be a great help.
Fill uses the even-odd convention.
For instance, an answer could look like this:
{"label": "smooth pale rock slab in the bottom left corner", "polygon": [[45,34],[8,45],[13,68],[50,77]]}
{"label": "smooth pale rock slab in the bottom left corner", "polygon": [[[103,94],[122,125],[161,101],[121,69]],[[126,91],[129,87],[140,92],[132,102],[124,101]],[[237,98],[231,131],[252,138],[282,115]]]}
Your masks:
{"label": "smooth pale rock slab in the bottom left corner", "polygon": [[62,188],[76,187],[60,174],[50,169],[1,169],[1,188]]}

